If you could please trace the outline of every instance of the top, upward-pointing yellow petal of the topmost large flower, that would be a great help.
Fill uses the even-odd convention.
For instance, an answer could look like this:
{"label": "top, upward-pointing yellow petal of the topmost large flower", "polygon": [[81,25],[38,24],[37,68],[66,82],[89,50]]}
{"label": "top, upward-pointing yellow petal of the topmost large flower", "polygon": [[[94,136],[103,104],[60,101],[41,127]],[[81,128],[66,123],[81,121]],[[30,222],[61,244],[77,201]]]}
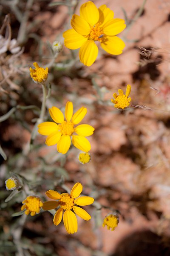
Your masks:
{"label": "top, upward-pointing yellow petal of the topmost large flower", "polygon": [[91,26],[94,26],[99,20],[99,11],[93,2],[88,1],[80,7],[80,17],[84,18]]}

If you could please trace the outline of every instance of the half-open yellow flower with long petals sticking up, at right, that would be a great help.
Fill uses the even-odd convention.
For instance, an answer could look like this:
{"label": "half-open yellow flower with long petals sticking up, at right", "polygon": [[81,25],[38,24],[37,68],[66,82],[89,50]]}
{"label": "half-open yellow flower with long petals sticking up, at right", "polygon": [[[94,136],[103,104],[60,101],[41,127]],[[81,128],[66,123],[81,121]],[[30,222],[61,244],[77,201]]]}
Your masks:
{"label": "half-open yellow flower with long petals sticking up, at right", "polygon": [[123,93],[122,89],[119,89],[119,95],[117,95],[117,93],[113,93],[113,98],[111,99],[111,102],[114,104],[115,108],[120,108],[120,109],[124,109],[124,108],[128,108],[131,102],[131,98],[129,96],[131,91],[131,86],[130,84],[127,84],[126,87],[126,93]]}

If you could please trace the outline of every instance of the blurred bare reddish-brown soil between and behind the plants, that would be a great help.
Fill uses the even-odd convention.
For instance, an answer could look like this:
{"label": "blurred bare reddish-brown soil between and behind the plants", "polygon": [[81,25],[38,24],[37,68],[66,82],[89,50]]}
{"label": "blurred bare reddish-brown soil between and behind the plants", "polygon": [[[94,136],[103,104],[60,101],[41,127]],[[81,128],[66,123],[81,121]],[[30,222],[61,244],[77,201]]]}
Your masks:
{"label": "blurred bare reddish-brown soil between and behind the plants", "polygon": [[[24,9],[26,2],[22,2]],[[85,2],[79,1],[77,14],[79,6]],[[34,26],[23,42],[25,51],[21,55],[26,75],[21,79],[18,90],[10,88],[6,96],[0,94],[1,115],[16,104],[41,106],[41,87],[31,81],[27,70],[34,61],[42,61],[44,66],[49,62],[48,58],[40,58],[38,38],[42,42],[63,41],[61,33],[70,28],[68,7],[50,7],[49,3],[51,1],[36,1],[30,10],[28,25],[34,22]],[[116,18],[125,18],[123,8],[128,19],[132,20],[143,1],[94,0],[94,3],[97,7],[106,4],[114,11]],[[12,38],[17,38],[19,22],[6,2],[2,2],[0,7],[1,23],[10,13]],[[33,34],[37,38],[30,36]],[[83,192],[87,195],[92,193],[96,201],[104,206],[102,218],[111,212],[107,207],[118,210],[119,225],[112,232],[102,225],[96,227],[97,213],[90,206],[86,209],[92,216],[91,220],[86,222],[78,218],[78,232],[68,235],[63,223],[54,226],[52,215],[43,212],[34,218],[29,217],[23,228],[22,238],[30,242],[28,255],[48,255],[48,252],[43,254],[43,251],[36,250],[34,244],[42,244],[49,248],[49,255],[59,256],[170,255],[170,1],[147,0],[142,15],[129,31],[125,29],[120,36],[126,38],[122,55],[109,55],[100,49],[91,67],[77,62],[70,70],[51,68],[49,81],[52,93],[47,101],[47,108],[51,104],[63,108],[68,100],[74,102],[75,110],[79,105],[87,106],[88,113],[83,121],[95,127],[94,135],[89,138],[91,162],[82,166],[75,157],[77,149],[72,148],[63,166],[68,172],[65,183],[70,188],[75,182],[82,183]],[[139,53],[139,47],[151,50],[149,61],[145,64],[142,61],[148,58]],[[45,47],[43,52],[45,57]],[[71,58],[71,52],[64,47],[57,62],[68,58]],[[92,85],[92,78],[99,90],[105,92],[102,102]],[[119,88],[125,92],[127,84],[132,86],[132,105],[146,106],[150,110],[129,108],[121,112],[113,105],[105,104]],[[33,128],[31,120],[35,117],[31,110],[24,113],[18,111],[15,119],[10,117],[1,123],[1,146],[9,160],[20,152],[24,155],[28,150]],[[23,123],[20,122],[22,119]],[[28,124],[29,131],[25,124]],[[6,177],[3,170],[7,165],[7,169],[22,169],[21,173],[26,177],[29,177],[29,171],[36,173],[38,178],[43,176],[44,181],[38,191],[44,195],[49,189],[47,180],[52,182],[55,175],[49,170],[46,173],[43,170],[41,175],[40,158],[45,159],[47,166],[52,164],[54,168],[60,163],[54,156],[55,152],[57,154],[56,146],[47,147],[45,137],[38,135],[34,144],[42,146],[36,153],[29,152],[26,161],[8,163],[7,160],[6,163],[2,160],[0,175],[2,179]],[[32,177],[35,179],[36,175]],[[2,186],[4,190],[4,183]],[[6,193],[8,195],[9,192]],[[10,207],[15,212],[20,211],[21,203]],[[4,208],[0,218],[4,233],[8,233],[13,219]],[[8,240],[12,241],[12,236]]]}

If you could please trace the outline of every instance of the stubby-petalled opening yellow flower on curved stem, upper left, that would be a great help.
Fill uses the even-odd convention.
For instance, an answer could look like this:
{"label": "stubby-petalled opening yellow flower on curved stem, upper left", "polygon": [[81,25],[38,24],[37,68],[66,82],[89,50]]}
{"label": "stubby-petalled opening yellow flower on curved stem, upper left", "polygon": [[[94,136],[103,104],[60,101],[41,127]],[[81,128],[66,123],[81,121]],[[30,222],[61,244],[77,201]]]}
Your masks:
{"label": "stubby-petalled opening yellow flower on curved stem, upper left", "polygon": [[34,65],[35,69],[32,69],[30,67],[30,69],[29,69],[30,76],[35,83],[41,84],[48,77],[48,67],[46,67],[45,69],[43,67],[39,67],[37,62],[34,62],[33,65]]}

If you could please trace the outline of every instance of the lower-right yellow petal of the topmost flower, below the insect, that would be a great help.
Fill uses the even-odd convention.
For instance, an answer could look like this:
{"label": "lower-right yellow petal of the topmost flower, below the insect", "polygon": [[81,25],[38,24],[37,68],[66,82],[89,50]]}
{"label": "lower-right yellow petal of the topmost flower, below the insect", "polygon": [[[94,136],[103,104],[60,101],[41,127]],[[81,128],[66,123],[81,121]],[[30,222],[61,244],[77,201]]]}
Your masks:
{"label": "lower-right yellow petal of the topmost flower, below the insect", "polygon": [[107,36],[108,41],[101,42],[101,47],[108,53],[119,55],[125,47],[125,43],[117,36]]}

